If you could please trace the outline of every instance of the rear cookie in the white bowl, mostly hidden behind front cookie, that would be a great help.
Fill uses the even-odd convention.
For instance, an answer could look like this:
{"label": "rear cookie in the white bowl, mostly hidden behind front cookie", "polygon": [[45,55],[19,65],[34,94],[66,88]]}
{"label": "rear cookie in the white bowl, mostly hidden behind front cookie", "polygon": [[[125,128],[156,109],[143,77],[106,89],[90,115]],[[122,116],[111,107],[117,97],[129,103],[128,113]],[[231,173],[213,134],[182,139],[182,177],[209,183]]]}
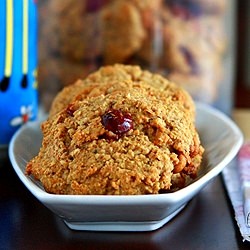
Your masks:
{"label": "rear cookie in the white bowl, mostly hidden behind front cookie", "polygon": [[78,80],[75,84],[65,87],[55,97],[50,109],[50,116],[65,108],[68,103],[74,100],[81,92],[82,97],[94,94],[106,94],[120,88],[121,84],[116,84],[119,81],[124,82],[122,86],[127,84],[131,87],[141,83],[165,91],[167,95],[172,95],[194,113],[192,98],[185,90],[176,84],[168,81],[159,74],[142,70],[139,66],[115,64],[101,67],[98,71],[90,74],[84,80]]}

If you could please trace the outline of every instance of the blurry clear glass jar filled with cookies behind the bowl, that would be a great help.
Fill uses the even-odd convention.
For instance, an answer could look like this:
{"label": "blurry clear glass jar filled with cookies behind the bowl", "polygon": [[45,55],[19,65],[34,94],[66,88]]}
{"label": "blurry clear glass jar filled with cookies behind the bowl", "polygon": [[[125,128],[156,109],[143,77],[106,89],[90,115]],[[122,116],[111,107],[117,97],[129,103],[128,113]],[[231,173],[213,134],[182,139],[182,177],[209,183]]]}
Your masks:
{"label": "blurry clear glass jar filled with cookies behind the bowl", "polygon": [[39,3],[41,102],[102,65],[136,64],[230,114],[233,0],[53,0]]}

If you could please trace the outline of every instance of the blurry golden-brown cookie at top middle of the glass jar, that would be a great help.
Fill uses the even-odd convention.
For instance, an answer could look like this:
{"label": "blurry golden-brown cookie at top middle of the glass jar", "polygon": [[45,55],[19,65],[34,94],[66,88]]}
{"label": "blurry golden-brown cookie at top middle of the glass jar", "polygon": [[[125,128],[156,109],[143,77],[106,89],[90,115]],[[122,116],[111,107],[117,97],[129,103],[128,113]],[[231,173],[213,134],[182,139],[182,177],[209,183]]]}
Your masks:
{"label": "blurry golden-brown cookie at top middle of the glass jar", "polygon": [[145,37],[138,9],[129,1],[114,1],[101,11],[105,64],[126,63]]}

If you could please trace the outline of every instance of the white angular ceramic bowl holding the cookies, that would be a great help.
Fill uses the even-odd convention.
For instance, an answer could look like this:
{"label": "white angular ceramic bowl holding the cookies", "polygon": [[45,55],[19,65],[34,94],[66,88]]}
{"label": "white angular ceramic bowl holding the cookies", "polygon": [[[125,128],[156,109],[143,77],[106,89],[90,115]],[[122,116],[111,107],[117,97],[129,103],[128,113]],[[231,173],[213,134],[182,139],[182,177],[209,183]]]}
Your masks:
{"label": "white angular ceramic bowl holding the cookies", "polygon": [[39,123],[16,132],[9,156],[17,175],[29,191],[75,230],[150,231],[173,218],[206,184],[235,157],[243,136],[234,122],[218,110],[197,104],[196,126],[205,147],[202,171],[187,187],[157,195],[55,195],[26,176],[25,166],[40,148]]}

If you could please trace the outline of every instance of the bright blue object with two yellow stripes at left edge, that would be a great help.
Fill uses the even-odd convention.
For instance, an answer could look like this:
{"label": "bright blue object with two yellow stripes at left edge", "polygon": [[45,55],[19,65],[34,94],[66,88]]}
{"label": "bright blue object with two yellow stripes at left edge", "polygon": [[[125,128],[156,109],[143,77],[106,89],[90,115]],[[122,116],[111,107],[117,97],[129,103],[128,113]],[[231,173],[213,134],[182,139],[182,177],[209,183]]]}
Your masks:
{"label": "bright blue object with two yellow stripes at left edge", "polygon": [[36,7],[35,0],[0,1],[0,146],[37,116]]}

